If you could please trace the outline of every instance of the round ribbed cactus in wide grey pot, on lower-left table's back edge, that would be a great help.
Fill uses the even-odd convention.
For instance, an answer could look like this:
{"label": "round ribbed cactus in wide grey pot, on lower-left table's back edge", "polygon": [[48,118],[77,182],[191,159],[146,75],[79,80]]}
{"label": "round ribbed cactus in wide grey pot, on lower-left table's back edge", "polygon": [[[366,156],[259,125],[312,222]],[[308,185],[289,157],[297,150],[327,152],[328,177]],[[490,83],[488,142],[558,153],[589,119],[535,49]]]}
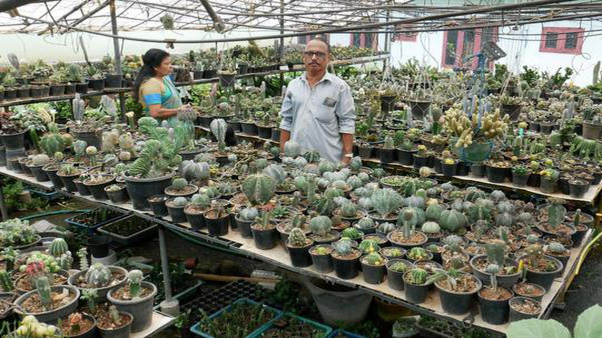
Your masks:
{"label": "round ribbed cactus in wide grey pot, on lower-left table's back edge", "polygon": [[81,271],[70,275],[67,283],[77,287],[81,292],[85,289],[95,290],[96,297],[101,303],[107,300],[107,293],[113,287],[122,286],[126,281],[128,271],[120,266],[105,266],[96,262],[87,267],[85,254],[80,257]]}

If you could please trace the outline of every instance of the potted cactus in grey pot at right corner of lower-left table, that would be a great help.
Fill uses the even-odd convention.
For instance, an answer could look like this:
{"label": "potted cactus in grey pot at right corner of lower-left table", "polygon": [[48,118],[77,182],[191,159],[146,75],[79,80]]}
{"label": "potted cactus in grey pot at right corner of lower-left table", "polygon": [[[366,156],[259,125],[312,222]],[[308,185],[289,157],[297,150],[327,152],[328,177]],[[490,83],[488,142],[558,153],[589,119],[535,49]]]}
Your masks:
{"label": "potted cactus in grey pot at right corner of lower-left table", "polygon": [[108,301],[118,310],[135,313],[132,321],[132,333],[140,332],[151,326],[153,304],[157,287],[147,281],[142,281],[142,271],[128,272],[128,281],[121,287],[114,287],[107,295]]}

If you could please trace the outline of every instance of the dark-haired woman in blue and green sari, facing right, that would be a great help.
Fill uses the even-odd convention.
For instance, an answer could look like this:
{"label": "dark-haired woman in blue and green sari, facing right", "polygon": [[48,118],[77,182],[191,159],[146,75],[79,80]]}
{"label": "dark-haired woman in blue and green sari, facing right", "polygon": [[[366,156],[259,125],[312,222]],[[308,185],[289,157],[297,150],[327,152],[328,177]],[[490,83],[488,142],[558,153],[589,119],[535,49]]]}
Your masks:
{"label": "dark-haired woman in blue and green sari, facing right", "polygon": [[161,49],[149,49],[142,57],[144,65],[134,82],[134,99],[146,115],[159,120],[173,120],[182,107],[178,89],[169,77],[172,58]]}

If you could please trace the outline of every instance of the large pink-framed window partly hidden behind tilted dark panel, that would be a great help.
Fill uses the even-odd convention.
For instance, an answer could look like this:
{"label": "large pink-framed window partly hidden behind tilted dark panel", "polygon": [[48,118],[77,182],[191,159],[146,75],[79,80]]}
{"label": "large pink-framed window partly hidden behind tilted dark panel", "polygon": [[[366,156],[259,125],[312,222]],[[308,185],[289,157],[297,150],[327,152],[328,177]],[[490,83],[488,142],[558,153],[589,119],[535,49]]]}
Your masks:
{"label": "large pink-framed window partly hidden behind tilted dark panel", "polygon": [[[495,42],[497,40],[497,27],[445,31],[441,66],[445,68],[470,67],[476,69],[477,58],[473,56],[479,53],[485,42]],[[487,64],[490,69],[493,68],[493,65],[492,61]]]}

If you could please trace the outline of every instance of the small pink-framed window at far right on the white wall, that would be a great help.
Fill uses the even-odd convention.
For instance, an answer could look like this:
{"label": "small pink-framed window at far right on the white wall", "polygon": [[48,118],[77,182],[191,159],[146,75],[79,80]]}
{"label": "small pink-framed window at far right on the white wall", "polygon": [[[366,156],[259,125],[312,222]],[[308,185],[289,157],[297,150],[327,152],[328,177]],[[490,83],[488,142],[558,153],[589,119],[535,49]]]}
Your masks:
{"label": "small pink-framed window at far right on the white wall", "polygon": [[585,29],[574,27],[544,27],[539,51],[544,53],[581,54]]}

